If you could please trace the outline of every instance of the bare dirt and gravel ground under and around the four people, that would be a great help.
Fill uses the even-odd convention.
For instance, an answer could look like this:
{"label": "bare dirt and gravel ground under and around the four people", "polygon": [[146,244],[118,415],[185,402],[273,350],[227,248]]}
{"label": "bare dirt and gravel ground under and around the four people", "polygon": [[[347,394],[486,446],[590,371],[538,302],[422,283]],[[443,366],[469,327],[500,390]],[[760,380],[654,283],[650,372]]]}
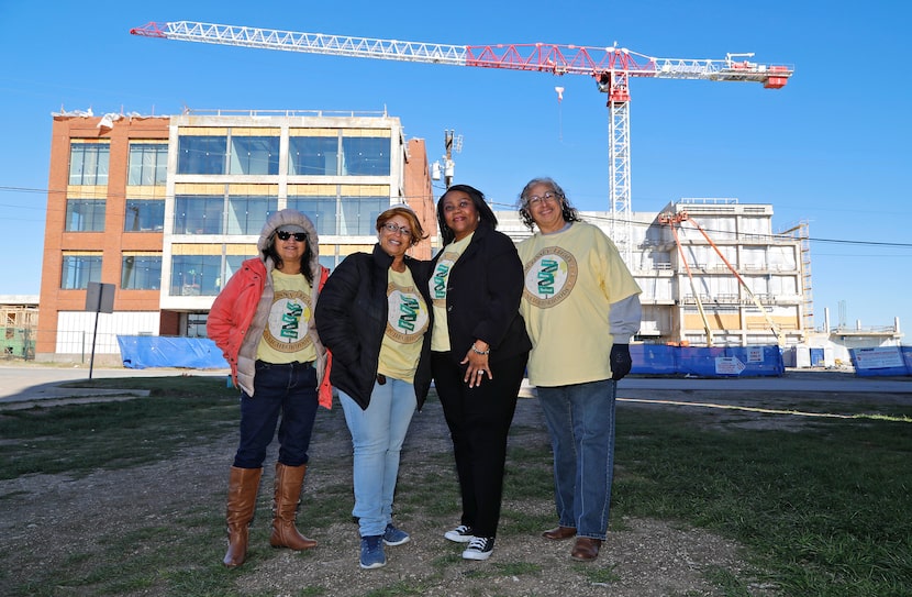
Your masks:
{"label": "bare dirt and gravel ground under and around the four people", "polygon": [[[648,397],[636,394],[622,390],[619,397],[630,400],[657,398],[655,391],[650,391]],[[661,398],[672,402],[693,400],[693,397],[672,391],[663,393]],[[701,401],[713,401],[713,397],[700,398]],[[770,405],[775,408],[776,400],[781,400],[785,406],[789,397],[738,395],[736,400],[722,396],[715,399],[716,402],[738,405],[763,403],[767,408]],[[633,408],[659,407],[652,402],[622,400],[619,402],[619,416],[624,409]],[[770,417],[674,403],[660,408],[700,409],[707,424],[801,424],[800,418],[794,416]],[[511,435],[511,442],[540,445],[547,442],[535,399],[520,400],[513,424],[514,429],[523,432]],[[236,438],[231,433],[214,446],[187,450],[179,458],[169,462],[125,471],[101,471],[78,479],[66,475],[29,475],[0,482],[0,553],[5,554],[2,566],[10,585],[18,585],[37,570],[53,568],[74,552],[84,553],[93,544],[101,545],[112,534],[147,528],[158,520],[166,523],[183,512],[188,502],[223,511],[226,471],[235,442]],[[412,422],[402,454],[401,474],[420,478],[423,467],[440,467],[440,464],[429,463],[426,455],[447,453],[448,442],[440,405],[429,402]],[[319,414],[305,494],[319,499],[322,487],[351,483],[351,476],[338,478],[340,473],[327,474],[329,468],[319,464],[331,458],[349,457],[351,442],[344,419],[341,416],[330,418]],[[622,467],[623,463],[619,462],[618,466]],[[264,474],[263,487],[271,487],[268,472]],[[535,504],[524,500],[519,505],[507,495],[504,511],[510,509],[547,516],[554,512],[554,505],[549,496]],[[258,516],[255,526],[265,529],[268,520],[264,518]],[[301,528],[307,531],[305,512],[300,520]],[[454,519],[453,523],[456,522]],[[443,539],[443,532],[447,529],[441,528],[436,519],[416,511],[409,516],[408,524],[402,526],[412,534],[412,541],[387,548],[388,565],[372,571],[358,567],[357,528],[349,520],[321,529],[319,534],[310,533],[320,541],[320,545],[304,554],[269,550],[266,531],[254,529],[251,549],[258,557],[232,574],[236,574],[236,585],[242,594],[276,596],[299,595],[308,586],[326,587],[321,595],[341,597],[365,595],[390,586],[424,586],[422,594],[447,596],[696,597],[721,595],[704,578],[705,571],[722,568],[737,575],[745,570],[739,546],[732,541],[700,529],[659,520],[612,520],[609,539],[598,561],[592,564],[579,564],[569,559],[571,542],[549,542],[537,534],[498,538],[490,560],[464,562],[458,557],[460,548]],[[154,542],[155,538],[147,541]],[[257,541],[263,544],[257,544]],[[78,549],[74,549],[75,545]],[[223,545],[216,545],[211,553],[201,554],[201,559],[214,554],[221,557],[223,549]],[[441,559],[447,557],[445,566],[438,565]],[[504,572],[505,563],[516,562],[538,566],[541,572]],[[208,564],[210,562],[188,563],[191,566]],[[2,594],[3,588],[0,587]],[[394,590],[383,593],[396,594]],[[776,590],[775,587],[754,584],[749,594],[766,597],[776,595]],[[148,589],[133,595],[165,593]]]}

